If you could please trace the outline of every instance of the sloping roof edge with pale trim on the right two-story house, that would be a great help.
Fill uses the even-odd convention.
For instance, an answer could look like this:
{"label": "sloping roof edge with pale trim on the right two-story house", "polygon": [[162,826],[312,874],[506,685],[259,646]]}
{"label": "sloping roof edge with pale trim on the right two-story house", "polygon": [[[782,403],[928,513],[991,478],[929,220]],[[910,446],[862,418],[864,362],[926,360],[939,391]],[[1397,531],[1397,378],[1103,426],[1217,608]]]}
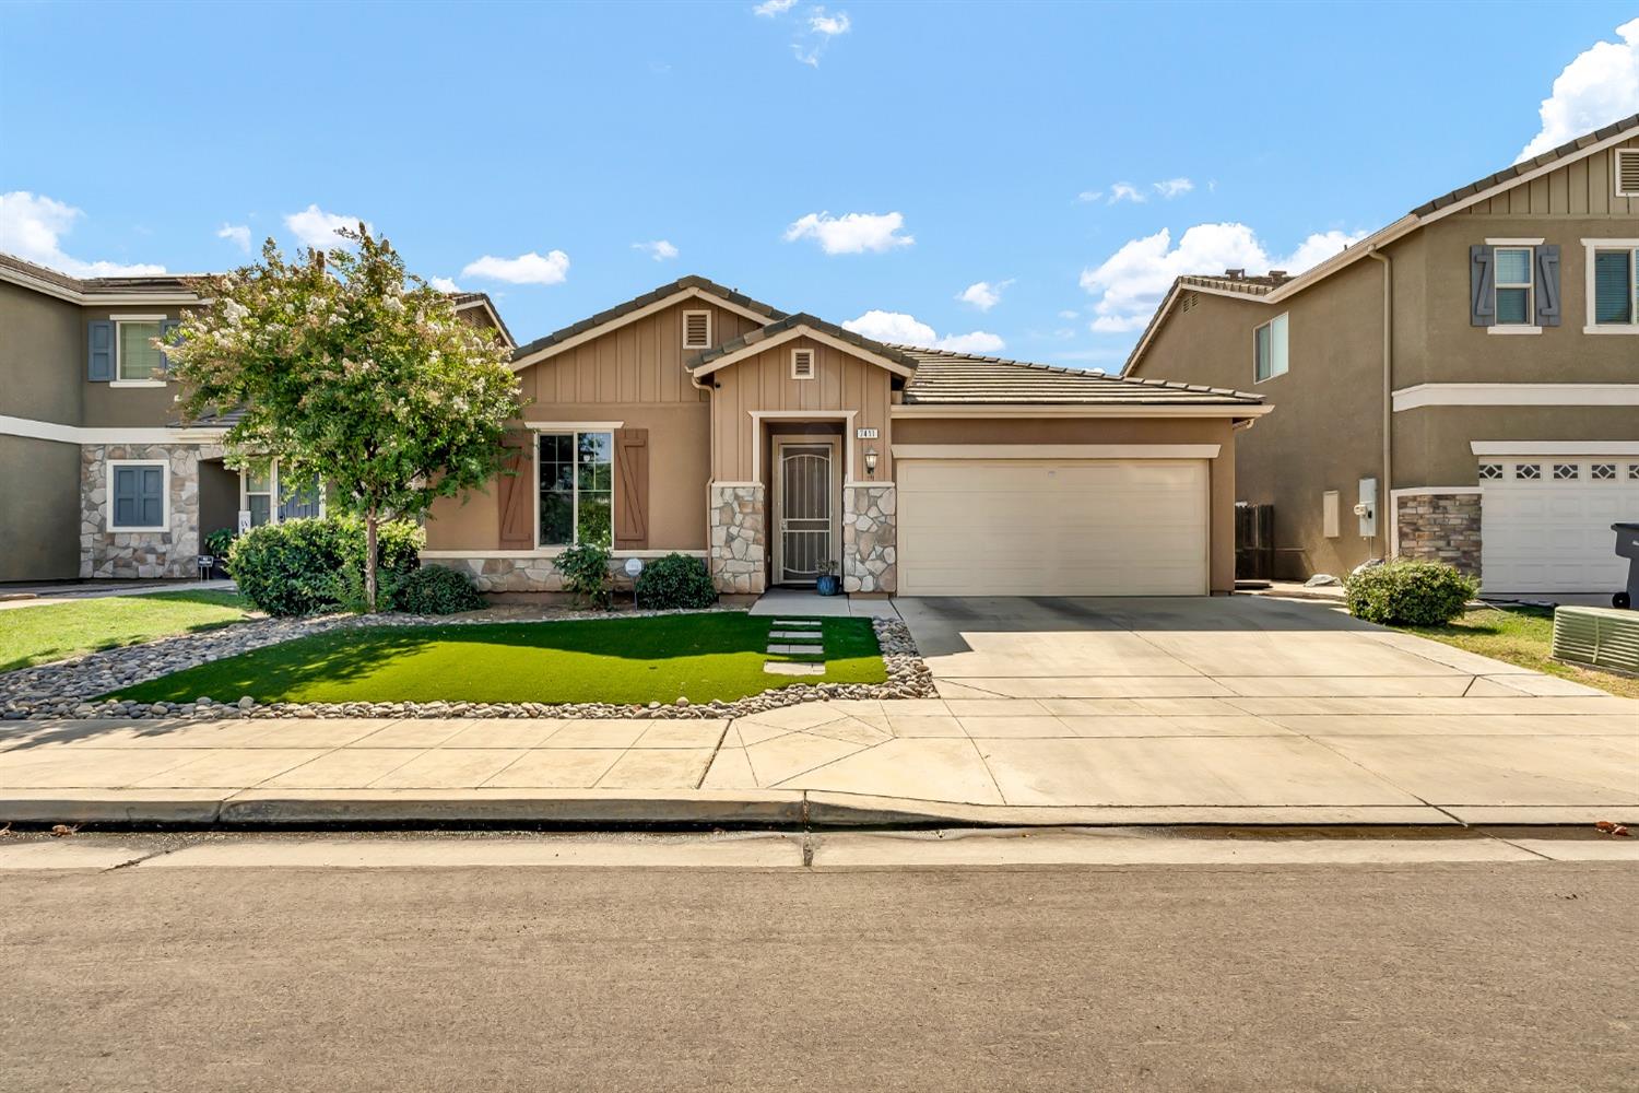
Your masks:
{"label": "sloping roof edge with pale trim on the right two-story house", "polygon": [[[1151,316],[1149,324],[1139,336],[1137,344],[1133,346],[1133,352],[1128,354],[1126,364],[1121,365],[1121,374],[1129,374],[1137,367],[1139,359],[1149,347],[1155,333],[1160,329],[1162,321],[1172,311],[1172,305],[1185,290],[1210,292],[1224,297],[1241,297],[1247,300],[1257,300],[1260,303],[1275,305],[1287,297],[1296,295],[1314,285],[1337,270],[1352,265],[1364,256],[1372,254],[1401,236],[1411,234],[1418,228],[1424,228],[1437,220],[1444,220],[1452,213],[1462,211],[1470,205],[1483,202],[1496,193],[1511,190],[1523,185],[1532,179],[1537,179],[1550,170],[1557,170],[1567,164],[1578,159],[1587,159],[1588,156],[1621,144],[1634,136],[1639,136],[1639,113],[1629,115],[1621,121],[1613,121],[1608,126],[1593,129],[1591,133],[1583,133],[1573,141],[1565,141],[1555,149],[1542,152],[1534,159],[1526,159],[1523,162],[1513,164],[1496,174],[1490,174],[1483,179],[1477,179],[1469,185],[1457,187],[1449,193],[1442,193],[1432,202],[1424,202],[1418,205],[1410,213],[1396,220],[1395,223],[1378,228],[1365,239],[1355,243],[1354,246],[1344,247],[1341,252],[1331,256],[1319,265],[1303,270],[1296,277],[1288,277],[1283,280],[1275,280],[1269,277],[1218,277],[1211,274],[1185,274],[1175,277],[1172,287],[1167,288],[1167,295],[1162,297],[1160,305]],[[1274,283],[1265,283],[1274,282]]]}

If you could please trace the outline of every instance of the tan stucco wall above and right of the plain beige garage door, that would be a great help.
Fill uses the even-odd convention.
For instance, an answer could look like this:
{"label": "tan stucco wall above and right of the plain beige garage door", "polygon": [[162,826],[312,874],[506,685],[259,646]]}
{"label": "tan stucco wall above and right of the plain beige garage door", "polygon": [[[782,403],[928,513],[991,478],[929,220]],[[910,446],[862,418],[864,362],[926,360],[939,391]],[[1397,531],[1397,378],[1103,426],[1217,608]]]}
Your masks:
{"label": "tan stucco wall above and right of the plain beige garage door", "polygon": [[[1267,423],[1272,416],[1260,420]],[[1255,433],[1257,429],[1254,429]],[[1228,418],[913,418],[893,421],[895,444],[1218,444],[1210,460],[1210,585],[1234,590],[1236,431]]]}

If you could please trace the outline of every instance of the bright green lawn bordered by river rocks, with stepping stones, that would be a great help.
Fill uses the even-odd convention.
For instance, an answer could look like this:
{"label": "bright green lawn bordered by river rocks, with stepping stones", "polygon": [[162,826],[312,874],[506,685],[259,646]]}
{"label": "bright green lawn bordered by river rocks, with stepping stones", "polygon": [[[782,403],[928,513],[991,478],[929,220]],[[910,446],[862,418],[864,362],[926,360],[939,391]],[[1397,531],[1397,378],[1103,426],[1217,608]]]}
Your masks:
{"label": "bright green lawn bordered by river rocks, with stepping stones", "polygon": [[139,683],[118,698],[193,701],[731,701],[790,683],[880,683],[869,619],[824,619],[824,675],[769,675],[767,618],[664,615],[572,623],[343,629]]}

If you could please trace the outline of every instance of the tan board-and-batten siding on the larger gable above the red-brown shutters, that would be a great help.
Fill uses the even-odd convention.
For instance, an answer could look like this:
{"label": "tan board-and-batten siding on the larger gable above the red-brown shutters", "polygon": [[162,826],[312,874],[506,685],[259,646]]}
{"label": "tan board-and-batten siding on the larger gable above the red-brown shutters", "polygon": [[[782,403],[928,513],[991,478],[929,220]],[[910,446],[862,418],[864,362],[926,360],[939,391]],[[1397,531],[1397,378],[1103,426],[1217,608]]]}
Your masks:
{"label": "tan board-and-batten siding on the larger gable above the red-brown shutters", "polygon": [[518,374],[531,420],[551,418],[554,405],[695,403],[706,393],[688,382],[683,361],[683,311],[711,311],[711,341],[723,344],[759,324],[698,300],[656,311],[620,329],[565,349]]}

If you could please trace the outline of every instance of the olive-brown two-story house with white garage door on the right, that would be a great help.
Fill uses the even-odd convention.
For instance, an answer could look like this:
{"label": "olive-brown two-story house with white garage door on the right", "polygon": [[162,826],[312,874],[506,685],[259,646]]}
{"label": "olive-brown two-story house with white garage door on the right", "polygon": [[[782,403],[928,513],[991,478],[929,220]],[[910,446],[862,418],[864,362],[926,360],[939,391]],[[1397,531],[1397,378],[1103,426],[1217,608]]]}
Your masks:
{"label": "olive-brown two-story house with white garage door on the right", "polygon": [[1178,277],[1124,375],[1257,392],[1237,498],[1275,575],[1434,557],[1611,592],[1639,519],[1639,115],[1434,198],[1298,277]]}

